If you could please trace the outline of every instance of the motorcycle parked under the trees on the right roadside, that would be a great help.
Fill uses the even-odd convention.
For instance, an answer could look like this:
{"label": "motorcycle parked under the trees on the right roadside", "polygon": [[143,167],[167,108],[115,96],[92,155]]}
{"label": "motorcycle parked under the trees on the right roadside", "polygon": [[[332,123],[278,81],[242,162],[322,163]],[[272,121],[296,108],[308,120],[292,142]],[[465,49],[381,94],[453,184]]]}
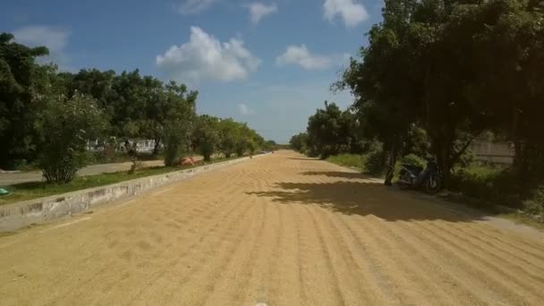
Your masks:
{"label": "motorcycle parked under the trees on the right roadside", "polygon": [[442,187],[442,173],[436,161],[427,160],[427,166],[412,166],[403,164],[398,178],[400,189],[424,188],[428,193],[436,193]]}

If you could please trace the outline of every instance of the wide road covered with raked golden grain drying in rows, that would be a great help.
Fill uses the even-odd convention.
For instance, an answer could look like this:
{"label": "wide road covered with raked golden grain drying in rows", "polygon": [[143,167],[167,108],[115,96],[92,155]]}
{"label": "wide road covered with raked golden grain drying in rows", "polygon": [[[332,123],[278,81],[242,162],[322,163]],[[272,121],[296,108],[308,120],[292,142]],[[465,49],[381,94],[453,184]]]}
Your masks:
{"label": "wide road covered with raked golden grain drying in rows", "polygon": [[524,227],[279,151],[0,237],[2,305],[541,305]]}

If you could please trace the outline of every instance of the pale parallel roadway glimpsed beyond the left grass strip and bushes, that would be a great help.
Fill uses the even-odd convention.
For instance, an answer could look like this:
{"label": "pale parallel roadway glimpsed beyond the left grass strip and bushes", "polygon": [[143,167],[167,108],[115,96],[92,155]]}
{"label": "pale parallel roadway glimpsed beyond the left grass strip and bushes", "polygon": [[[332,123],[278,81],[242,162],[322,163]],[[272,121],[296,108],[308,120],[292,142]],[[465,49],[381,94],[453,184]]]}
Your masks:
{"label": "pale parallel roadway glimpsed beyond the left grass strip and bushes", "polygon": [[[140,162],[141,166],[165,166],[163,160],[148,160]],[[82,168],[78,175],[104,174],[118,171],[128,171],[132,162],[99,164]],[[39,182],[42,180],[41,171],[25,171],[8,174],[0,174],[0,186],[13,185],[15,183]]]}

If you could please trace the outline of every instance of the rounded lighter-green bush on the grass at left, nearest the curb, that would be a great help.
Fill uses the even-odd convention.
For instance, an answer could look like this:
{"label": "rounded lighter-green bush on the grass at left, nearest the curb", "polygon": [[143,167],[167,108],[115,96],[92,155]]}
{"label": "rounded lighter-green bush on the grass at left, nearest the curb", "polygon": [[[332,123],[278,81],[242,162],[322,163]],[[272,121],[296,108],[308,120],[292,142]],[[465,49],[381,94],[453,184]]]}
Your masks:
{"label": "rounded lighter-green bush on the grass at left, nearest the curb", "polygon": [[47,108],[39,125],[43,132],[39,166],[47,183],[67,183],[88,162],[87,140],[98,137],[106,120],[88,96],[50,97],[44,102]]}

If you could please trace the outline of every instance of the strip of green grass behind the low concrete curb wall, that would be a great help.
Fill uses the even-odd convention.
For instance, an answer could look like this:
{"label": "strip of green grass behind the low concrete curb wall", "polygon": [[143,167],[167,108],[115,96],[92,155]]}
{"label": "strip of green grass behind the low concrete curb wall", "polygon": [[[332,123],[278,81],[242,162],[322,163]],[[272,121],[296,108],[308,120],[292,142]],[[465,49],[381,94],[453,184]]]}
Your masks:
{"label": "strip of green grass behind the low concrete curb wall", "polygon": [[[214,164],[223,162],[238,157],[231,158],[217,158],[206,163],[202,162],[199,166]],[[140,177],[166,174],[169,172],[180,171],[185,169],[194,168],[197,166],[154,166],[137,169],[133,174],[128,174],[127,171],[96,174],[87,176],[78,176],[70,183],[64,184],[48,184],[45,182],[30,182],[30,183],[18,183],[4,187],[9,194],[0,197],[0,205],[11,204],[23,200],[32,200],[43,197],[52,196],[55,194],[62,194],[72,191],[80,191],[83,189],[109,185],[113,183],[120,183],[123,181],[129,181]]]}

